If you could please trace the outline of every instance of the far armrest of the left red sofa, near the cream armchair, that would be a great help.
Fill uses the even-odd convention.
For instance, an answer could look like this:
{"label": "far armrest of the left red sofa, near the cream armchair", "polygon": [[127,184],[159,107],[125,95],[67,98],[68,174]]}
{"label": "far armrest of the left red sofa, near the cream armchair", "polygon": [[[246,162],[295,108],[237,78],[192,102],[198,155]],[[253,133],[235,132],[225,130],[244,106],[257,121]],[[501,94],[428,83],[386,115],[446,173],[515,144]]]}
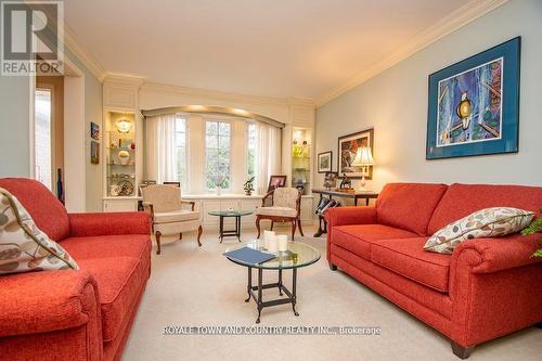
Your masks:
{"label": "far armrest of the left red sofa, near the cream armchair", "polygon": [[69,214],[73,237],[151,234],[151,217],[144,211]]}

